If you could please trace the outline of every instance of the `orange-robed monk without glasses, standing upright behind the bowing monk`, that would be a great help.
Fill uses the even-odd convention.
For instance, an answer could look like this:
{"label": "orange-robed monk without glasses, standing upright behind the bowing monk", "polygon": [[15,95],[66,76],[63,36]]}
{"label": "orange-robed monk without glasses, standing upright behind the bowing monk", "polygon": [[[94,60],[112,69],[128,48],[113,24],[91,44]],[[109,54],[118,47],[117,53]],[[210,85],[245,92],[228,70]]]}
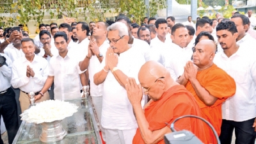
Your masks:
{"label": "orange-robed monk without glasses, standing upright behind the bowing monk", "polygon": [[[236,83],[224,70],[213,62],[216,45],[212,40],[201,40],[193,50],[191,61],[184,67],[184,85],[198,103],[202,117],[209,121],[220,136],[221,105],[236,93]],[[210,127],[205,124],[207,143],[217,143]]]}

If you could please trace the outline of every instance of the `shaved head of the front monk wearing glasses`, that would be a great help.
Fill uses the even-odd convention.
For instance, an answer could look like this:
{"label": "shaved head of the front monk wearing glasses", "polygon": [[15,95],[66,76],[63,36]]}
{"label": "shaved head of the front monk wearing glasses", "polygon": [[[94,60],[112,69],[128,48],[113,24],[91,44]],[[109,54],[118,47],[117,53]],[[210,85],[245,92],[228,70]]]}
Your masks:
{"label": "shaved head of the front monk wearing glasses", "polygon": [[145,94],[154,101],[159,100],[174,82],[170,72],[156,61],[147,61],[140,68],[139,81]]}

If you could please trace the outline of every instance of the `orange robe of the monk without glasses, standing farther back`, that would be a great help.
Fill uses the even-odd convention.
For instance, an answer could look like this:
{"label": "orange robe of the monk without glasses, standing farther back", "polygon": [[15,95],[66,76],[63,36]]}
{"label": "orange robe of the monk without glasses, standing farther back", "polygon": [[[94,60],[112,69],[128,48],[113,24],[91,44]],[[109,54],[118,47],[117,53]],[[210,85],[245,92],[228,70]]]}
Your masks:
{"label": "orange robe of the monk without glasses, standing farther back", "polygon": [[[215,64],[205,70],[198,71],[196,79],[199,81],[201,86],[210,93],[210,95],[218,98],[212,106],[206,106],[196,95],[191,82],[188,81],[186,84],[187,90],[195,97],[196,102],[201,109],[202,117],[212,124],[220,136],[222,122],[221,105],[226,99],[228,99],[228,97],[231,97],[236,93],[236,83],[234,79],[227,74],[227,72],[217,67]],[[217,143],[209,125],[204,125],[207,143]]]}

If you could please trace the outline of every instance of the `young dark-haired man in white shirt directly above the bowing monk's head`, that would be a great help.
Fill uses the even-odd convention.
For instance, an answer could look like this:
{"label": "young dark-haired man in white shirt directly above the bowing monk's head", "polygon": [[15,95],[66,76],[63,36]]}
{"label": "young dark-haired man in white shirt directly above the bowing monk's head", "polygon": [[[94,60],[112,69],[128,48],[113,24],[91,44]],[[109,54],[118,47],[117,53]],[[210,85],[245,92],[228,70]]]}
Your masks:
{"label": "young dark-haired man in white shirt directly above the bowing monk's head", "polygon": [[151,56],[150,60],[157,61],[161,63],[163,66],[165,65],[164,54],[166,49],[171,48],[172,40],[170,38],[166,38],[166,34],[168,32],[167,29],[167,21],[165,19],[157,19],[156,20],[156,38],[152,39],[150,42],[151,47]]}

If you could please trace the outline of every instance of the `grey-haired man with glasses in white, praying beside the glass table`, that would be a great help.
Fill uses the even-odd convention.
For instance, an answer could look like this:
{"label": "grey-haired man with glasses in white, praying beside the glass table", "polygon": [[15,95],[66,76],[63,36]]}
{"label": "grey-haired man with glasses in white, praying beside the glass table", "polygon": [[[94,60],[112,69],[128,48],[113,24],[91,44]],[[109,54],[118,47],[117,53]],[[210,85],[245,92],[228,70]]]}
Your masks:
{"label": "grey-haired man with glasses in white, praying beside the glass table", "polygon": [[106,132],[106,143],[130,144],[138,125],[127,98],[125,84],[128,77],[135,77],[145,58],[129,42],[127,26],[115,22],[108,27],[109,47],[106,58],[100,64],[100,72],[94,75],[94,83],[103,83],[103,105],[101,124]]}

